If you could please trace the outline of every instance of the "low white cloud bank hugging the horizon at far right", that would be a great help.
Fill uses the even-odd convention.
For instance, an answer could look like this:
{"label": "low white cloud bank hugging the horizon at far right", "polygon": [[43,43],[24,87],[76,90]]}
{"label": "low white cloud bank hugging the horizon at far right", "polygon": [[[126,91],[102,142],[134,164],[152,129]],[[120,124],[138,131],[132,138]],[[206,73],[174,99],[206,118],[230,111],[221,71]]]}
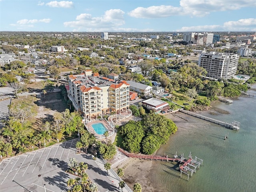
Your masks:
{"label": "low white cloud bank hugging the horizon at far right", "polygon": [[256,18],[247,18],[224,22],[223,25],[184,26],[177,31],[255,31],[255,27]]}

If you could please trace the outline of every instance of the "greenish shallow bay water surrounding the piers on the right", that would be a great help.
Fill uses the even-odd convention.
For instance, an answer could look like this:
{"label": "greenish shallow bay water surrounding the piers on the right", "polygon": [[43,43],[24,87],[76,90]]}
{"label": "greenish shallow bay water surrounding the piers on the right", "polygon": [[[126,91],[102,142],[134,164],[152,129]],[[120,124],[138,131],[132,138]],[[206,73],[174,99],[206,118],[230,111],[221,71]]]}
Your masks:
{"label": "greenish shallow bay water surrounding the piers on the right", "polygon": [[[254,85],[254,88],[256,86]],[[256,93],[255,90],[250,92]],[[203,166],[193,174],[189,181],[182,175],[177,163],[155,162],[151,176],[153,184],[161,192],[253,192],[256,188],[256,98],[241,96],[233,104],[216,102],[213,106],[230,114],[202,115],[224,122],[240,122],[240,130],[230,130],[192,116],[180,119],[182,128],[172,135],[167,144],[157,153],[173,157],[184,153],[204,159]],[[225,134],[228,139],[224,140]]]}

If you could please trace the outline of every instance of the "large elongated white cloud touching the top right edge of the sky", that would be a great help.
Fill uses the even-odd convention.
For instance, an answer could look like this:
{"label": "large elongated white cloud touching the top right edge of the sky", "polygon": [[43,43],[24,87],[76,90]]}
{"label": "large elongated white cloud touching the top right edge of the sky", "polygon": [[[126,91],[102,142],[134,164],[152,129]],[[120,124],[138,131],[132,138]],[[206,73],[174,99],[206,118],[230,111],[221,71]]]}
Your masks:
{"label": "large elongated white cloud touching the top right edge of the sky", "polygon": [[[171,2],[171,1],[170,1]],[[136,18],[162,18],[174,15],[205,16],[210,12],[256,7],[255,0],[180,0],[180,6],[138,7],[128,14]]]}

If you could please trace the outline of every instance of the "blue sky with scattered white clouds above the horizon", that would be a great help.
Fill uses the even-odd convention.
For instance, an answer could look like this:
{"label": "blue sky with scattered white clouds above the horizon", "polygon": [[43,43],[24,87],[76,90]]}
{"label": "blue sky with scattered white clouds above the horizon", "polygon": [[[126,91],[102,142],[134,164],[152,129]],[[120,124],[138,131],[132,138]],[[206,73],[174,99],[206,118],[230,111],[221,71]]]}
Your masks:
{"label": "blue sky with scattered white clouds above the horizon", "polygon": [[0,31],[256,31],[256,0],[0,0]]}

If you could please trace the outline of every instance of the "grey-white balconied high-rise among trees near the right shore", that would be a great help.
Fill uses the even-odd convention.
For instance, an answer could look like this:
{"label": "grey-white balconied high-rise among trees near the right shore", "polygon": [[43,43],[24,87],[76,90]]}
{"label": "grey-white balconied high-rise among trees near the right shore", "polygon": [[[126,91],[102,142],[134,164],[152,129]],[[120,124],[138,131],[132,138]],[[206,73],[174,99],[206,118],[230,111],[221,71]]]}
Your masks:
{"label": "grey-white balconied high-rise among trees near the right shore", "polygon": [[236,74],[238,60],[238,54],[210,52],[201,54],[198,66],[203,67],[210,78],[229,79]]}

